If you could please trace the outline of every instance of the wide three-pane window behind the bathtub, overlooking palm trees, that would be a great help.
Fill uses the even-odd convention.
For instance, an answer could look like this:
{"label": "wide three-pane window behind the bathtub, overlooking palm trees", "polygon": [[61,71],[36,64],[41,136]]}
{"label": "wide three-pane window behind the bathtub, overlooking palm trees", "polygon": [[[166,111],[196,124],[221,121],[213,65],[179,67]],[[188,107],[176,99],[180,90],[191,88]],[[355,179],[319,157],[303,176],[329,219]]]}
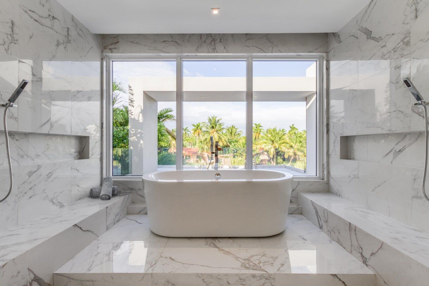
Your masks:
{"label": "wide three-pane window behind the bathtub, overlooking palm trees", "polygon": [[268,169],[320,176],[319,59],[109,59],[112,176]]}

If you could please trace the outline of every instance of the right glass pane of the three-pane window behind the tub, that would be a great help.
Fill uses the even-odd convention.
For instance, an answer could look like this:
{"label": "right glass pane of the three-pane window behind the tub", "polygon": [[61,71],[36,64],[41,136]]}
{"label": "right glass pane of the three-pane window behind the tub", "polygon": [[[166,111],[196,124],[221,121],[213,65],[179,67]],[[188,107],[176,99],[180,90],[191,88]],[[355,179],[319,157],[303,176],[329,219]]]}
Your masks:
{"label": "right glass pane of the three-pane window behind the tub", "polygon": [[316,175],[315,99],[315,61],[253,62],[252,155],[257,169]]}

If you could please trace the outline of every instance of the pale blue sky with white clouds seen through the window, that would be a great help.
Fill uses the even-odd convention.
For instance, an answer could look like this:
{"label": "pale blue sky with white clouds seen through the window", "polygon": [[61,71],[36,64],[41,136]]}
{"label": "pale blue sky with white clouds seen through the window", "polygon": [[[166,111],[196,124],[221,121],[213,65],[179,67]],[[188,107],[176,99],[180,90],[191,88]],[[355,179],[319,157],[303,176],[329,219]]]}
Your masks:
{"label": "pale blue sky with white clouds seen through the window", "polygon": [[[254,76],[305,76],[305,71],[314,61],[254,61]],[[128,85],[130,76],[175,76],[175,61],[122,61],[114,62],[113,77]],[[245,61],[184,61],[184,76],[246,76]],[[127,94],[122,95],[127,102]],[[175,102],[159,102],[158,110],[172,107]],[[278,127],[288,129],[295,124],[300,130],[305,129],[305,102],[254,102],[253,121],[264,128]],[[183,126],[192,129],[192,124],[203,122],[208,116],[222,118],[225,126],[236,125],[245,132],[245,102],[184,102]],[[167,125],[175,128],[175,123]]]}

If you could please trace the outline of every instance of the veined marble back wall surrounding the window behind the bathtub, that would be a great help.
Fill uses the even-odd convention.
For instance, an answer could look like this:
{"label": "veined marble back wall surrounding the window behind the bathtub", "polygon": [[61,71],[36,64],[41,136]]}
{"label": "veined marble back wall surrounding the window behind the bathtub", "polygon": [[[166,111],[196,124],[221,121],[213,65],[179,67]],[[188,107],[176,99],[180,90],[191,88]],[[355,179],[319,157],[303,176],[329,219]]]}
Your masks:
{"label": "veined marble back wall surrounding the window behind the bathtub", "polygon": [[[326,53],[326,33],[289,34],[105,34],[104,54],[310,54]],[[323,80],[324,81],[324,80]],[[325,101],[323,101],[325,104]],[[324,108],[326,110],[326,108]],[[326,115],[323,116],[326,122]],[[323,123],[323,125],[325,125]],[[324,132],[326,134],[326,132]],[[326,143],[326,138],[323,140]],[[293,184],[291,202],[297,203],[297,194],[305,192],[327,192],[326,149],[323,152],[324,180],[296,180]],[[133,202],[144,202],[141,180],[117,180],[115,184],[131,191]]]}

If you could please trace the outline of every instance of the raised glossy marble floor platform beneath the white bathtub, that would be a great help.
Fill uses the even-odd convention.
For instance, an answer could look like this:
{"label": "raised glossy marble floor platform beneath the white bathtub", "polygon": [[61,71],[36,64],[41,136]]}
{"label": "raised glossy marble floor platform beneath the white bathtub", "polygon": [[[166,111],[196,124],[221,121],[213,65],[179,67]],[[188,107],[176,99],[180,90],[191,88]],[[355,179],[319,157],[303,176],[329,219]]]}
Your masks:
{"label": "raised glossy marble floor platform beneath the white bathtub", "polygon": [[174,238],[127,215],[56,271],[73,285],[373,285],[374,274],[302,215],[272,237]]}

